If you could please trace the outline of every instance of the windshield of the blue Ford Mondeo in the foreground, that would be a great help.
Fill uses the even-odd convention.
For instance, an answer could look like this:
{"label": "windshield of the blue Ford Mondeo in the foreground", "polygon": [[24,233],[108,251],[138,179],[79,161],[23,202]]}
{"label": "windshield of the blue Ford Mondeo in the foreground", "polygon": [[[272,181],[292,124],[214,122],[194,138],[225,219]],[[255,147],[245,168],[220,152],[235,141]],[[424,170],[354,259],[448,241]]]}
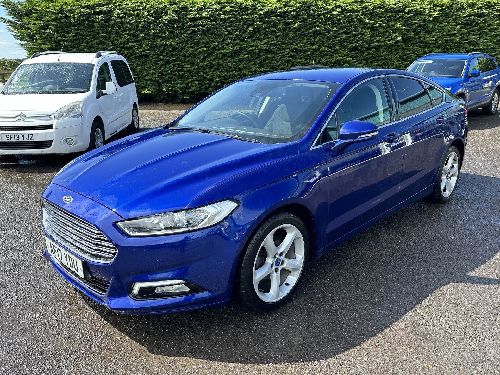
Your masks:
{"label": "windshield of the blue Ford Mondeo in the foreground", "polygon": [[208,129],[261,143],[297,140],[340,85],[301,80],[236,82],[193,108],[172,128]]}

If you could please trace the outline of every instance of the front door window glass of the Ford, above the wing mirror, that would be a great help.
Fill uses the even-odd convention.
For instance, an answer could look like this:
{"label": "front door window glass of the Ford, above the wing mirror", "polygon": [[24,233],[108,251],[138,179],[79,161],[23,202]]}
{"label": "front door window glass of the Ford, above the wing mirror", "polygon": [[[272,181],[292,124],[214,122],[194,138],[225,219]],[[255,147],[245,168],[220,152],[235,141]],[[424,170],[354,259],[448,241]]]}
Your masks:
{"label": "front door window glass of the Ford, above the wing mirror", "polygon": [[[382,79],[372,79],[354,88],[336,110],[337,131],[350,120],[369,121],[377,126],[390,122],[387,93]],[[331,136],[336,135],[331,131]],[[335,136],[336,138],[336,136]]]}

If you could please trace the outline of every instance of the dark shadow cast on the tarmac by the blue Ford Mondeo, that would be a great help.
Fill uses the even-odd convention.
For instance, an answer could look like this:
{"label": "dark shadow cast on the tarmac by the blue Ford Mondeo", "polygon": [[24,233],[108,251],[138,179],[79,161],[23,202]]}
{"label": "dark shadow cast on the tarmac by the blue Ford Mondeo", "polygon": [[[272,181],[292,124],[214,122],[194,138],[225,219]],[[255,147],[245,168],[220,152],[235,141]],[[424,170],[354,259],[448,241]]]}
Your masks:
{"label": "dark shadow cast on the tarmac by the blue Ford Mondeo", "polygon": [[[462,173],[448,204],[419,200],[309,264],[284,306],[122,315],[82,294],[156,355],[239,363],[330,358],[356,347],[449,283],[500,284],[474,269],[499,250],[500,178]],[[496,203],[495,203],[496,202]]]}

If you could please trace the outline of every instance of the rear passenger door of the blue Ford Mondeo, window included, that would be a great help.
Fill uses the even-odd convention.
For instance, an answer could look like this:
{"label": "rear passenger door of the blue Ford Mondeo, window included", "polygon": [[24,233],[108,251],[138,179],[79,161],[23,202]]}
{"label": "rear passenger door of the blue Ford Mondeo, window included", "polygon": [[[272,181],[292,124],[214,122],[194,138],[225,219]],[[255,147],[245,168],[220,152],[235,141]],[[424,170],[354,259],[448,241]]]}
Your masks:
{"label": "rear passenger door of the blue Ford Mondeo, window included", "polygon": [[441,108],[443,92],[418,79],[391,76],[398,102],[397,117],[404,139],[401,201],[433,182],[436,167],[444,153],[447,122],[451,112]]}

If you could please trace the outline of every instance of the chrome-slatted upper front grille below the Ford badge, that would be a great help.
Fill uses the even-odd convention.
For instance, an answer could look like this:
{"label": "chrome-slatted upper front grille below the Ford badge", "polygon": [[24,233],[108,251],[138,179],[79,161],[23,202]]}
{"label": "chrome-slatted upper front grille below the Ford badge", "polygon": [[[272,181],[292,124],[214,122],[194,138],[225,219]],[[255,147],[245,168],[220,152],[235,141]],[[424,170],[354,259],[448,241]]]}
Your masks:
{"label": "chrome-slatted upper front grille below the Ford badge", "polygon": [[113,260],[118,250],[95,226],[47,200],[42,200],[42,207],[43,226],[56,241],[86,259]]}

